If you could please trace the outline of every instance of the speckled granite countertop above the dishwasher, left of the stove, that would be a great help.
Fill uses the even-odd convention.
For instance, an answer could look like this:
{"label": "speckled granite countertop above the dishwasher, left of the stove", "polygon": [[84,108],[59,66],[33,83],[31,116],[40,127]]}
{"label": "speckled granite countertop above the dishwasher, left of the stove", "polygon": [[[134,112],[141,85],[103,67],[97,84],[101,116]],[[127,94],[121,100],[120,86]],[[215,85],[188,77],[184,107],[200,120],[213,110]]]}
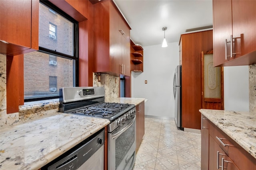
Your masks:
{"label": "speckled granite countertop above the dishwasher, left of the stove", "polygon": [[0,169],[38,170],[110,123],[55,113],[0,129]]}

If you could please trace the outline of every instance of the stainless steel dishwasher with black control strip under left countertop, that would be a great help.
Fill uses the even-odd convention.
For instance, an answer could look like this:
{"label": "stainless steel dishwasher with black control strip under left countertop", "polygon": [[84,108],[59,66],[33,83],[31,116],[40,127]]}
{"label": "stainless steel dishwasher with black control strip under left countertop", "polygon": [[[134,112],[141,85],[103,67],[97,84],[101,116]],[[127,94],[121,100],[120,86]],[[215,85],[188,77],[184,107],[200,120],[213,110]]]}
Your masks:
{"label": "stainless steel dishwasher with black control strip under left countertop", "polygon": [[41,170],[104,170],[104,139],[102,129]]}

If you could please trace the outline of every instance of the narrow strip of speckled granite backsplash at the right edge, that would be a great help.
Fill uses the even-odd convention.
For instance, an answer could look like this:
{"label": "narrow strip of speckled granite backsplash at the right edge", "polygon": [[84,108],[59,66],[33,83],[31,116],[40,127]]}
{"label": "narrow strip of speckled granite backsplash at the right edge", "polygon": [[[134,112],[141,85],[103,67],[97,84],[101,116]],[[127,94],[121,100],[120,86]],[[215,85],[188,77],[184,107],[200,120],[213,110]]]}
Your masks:
{"label": "narrow strip of speckled granite backsplash at the right edge", "polygon": [[249,66],[249,111],[256,113],[256,64]]}

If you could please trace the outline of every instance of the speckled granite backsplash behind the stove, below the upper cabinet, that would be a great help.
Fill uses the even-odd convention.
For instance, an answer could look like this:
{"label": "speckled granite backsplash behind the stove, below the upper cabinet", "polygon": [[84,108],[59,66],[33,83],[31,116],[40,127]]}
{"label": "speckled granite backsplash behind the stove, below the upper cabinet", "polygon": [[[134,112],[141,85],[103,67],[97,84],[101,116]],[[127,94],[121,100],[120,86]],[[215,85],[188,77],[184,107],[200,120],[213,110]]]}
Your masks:
{"label": "speckled granite backsplash behind the stove, below the upper cabinet", "polygon": [[98,81],[98,73],[93,73],[93,86],[104,86],[105,100],[118,98],[119,96],[119,77],[110,76],[109,74],[100,74],[100,82]]}

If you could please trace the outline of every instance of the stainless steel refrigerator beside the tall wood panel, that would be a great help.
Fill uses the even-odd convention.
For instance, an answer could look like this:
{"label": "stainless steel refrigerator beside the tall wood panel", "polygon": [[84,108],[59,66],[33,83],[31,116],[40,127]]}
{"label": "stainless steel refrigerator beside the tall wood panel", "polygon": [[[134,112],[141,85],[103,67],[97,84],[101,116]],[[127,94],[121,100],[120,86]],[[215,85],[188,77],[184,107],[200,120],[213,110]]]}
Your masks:
{"label": "stainless steel refrigerator beside the tall wood panel", "polygon": [[174,80],[173,80],[173,93],[175,99],[175,121],[179,129],[182,128],[182,100],[181,100],[181,65],[176,66]]}

